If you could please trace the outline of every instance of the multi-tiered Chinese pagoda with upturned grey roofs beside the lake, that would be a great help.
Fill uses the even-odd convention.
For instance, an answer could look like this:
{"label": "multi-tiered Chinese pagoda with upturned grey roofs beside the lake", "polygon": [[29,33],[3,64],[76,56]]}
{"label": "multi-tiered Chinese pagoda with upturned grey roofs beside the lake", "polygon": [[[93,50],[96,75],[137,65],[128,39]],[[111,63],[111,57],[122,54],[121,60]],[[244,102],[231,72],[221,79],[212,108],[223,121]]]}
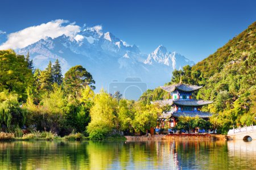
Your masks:
{"label": "multi-tiered Chinese pagoda with upturned grey roofs beside the lake", "polygon": [[168,128],[173,128],[177,124],[180,116],[198,116],[200,118],[209,119],[212,114],[209,112],[202,112],[201,109],[203,105],[211,104],[213,101],[193,99],[193,93],[202,87],[203,86],[183,84],[181,80],[180,83],[177,84],[161,86],[160,88],[168,92],[169,99],[153,101],[151,103],[159,104],[160,106],[170,105],[170,110],[164,112],[159,117],[158,120],[160,125],[158,124],[158,127],[166,127],[166,123],[168,123]]}

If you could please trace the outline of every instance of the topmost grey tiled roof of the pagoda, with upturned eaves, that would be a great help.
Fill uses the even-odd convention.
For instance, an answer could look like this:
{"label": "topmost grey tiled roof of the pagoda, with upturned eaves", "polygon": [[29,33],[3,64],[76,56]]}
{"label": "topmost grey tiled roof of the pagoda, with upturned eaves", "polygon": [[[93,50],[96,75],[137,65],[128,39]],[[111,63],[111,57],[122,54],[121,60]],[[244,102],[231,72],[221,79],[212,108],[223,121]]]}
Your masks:
{"label": "topmost grey tiled roof of the pagoda, with upturned eaves", "polygon": [[192,91],[199,90],[202,87],[203,86],[194,86],[194,85],[188,85],[183,83],[177,83],[170,86],[160,86],[160,88],[168,92],[173,92],[175,91],[175,89],[180,91],[185,91],[185,92],[192,92]]}

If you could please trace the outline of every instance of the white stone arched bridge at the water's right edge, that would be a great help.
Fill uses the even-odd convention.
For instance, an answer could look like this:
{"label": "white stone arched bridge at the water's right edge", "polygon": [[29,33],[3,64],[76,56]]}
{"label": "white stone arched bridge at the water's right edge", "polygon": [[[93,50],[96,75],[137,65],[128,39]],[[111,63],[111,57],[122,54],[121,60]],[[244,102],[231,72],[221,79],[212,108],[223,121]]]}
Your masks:
{"label": "white stone arched bridge at the water's right edge", "polygon": [[249,137],[256,140],[256,126],[245,126],[243,128],[230,129],[228,135],[229,140],[244,140],[247,141]]}

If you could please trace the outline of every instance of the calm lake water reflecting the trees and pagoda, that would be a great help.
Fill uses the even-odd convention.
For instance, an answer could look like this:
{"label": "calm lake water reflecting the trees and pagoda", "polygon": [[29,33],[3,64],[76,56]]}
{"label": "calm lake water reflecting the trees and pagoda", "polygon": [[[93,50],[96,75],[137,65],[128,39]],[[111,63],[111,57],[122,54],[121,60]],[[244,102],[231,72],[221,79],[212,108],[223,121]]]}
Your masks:
{"label": "calm lake water reflecting the trees and pagoda", "polygon": [[0,169],[256,169],[256,141],[1,142]]}

